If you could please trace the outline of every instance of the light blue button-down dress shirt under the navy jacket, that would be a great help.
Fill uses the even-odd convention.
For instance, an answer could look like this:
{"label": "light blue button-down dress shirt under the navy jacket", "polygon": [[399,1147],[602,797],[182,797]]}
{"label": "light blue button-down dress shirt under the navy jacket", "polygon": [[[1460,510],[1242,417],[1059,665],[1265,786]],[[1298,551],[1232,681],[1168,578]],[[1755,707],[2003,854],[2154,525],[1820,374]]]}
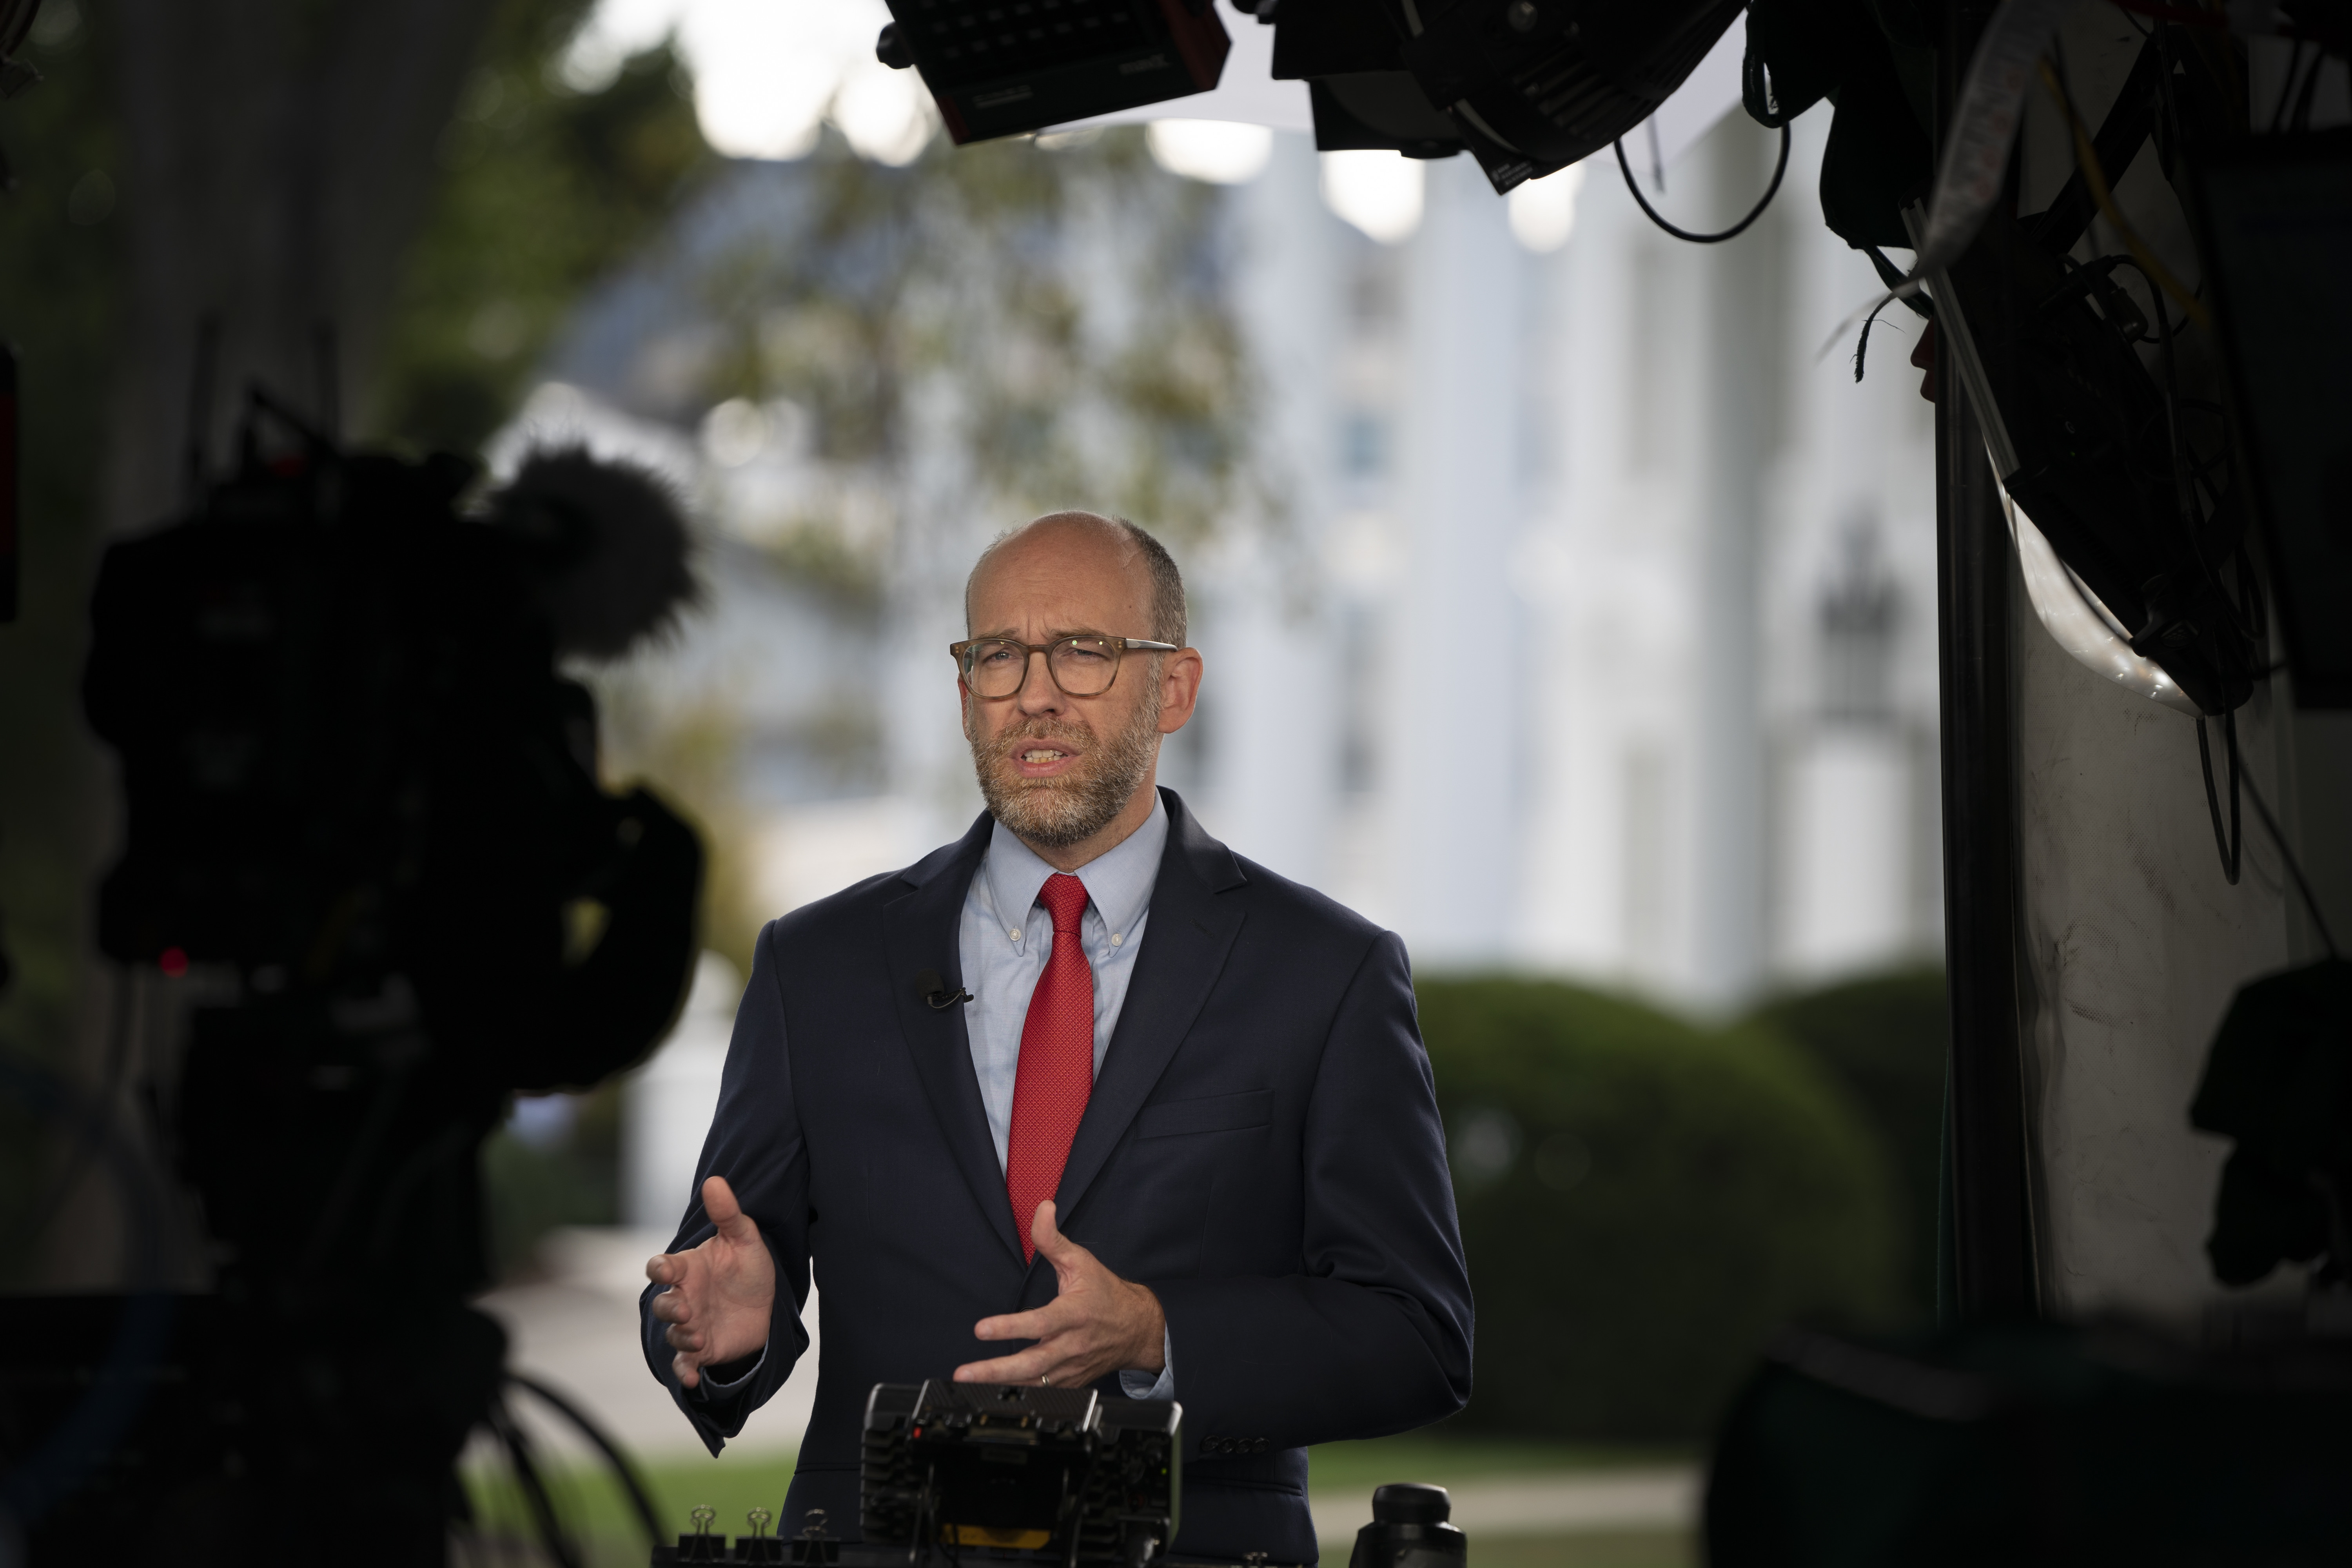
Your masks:
{"label": "light blue button-down dress shirt under the navy jacket", "polygon": [[[1136,950],[1143,947],[1143,922],[1152,910],[1152,886],[1160,884],[1160,853],[1169,842],[1167,802],[1152,795],[1152,813],[1120,844],[1080,865],[1073,877],[1087,884],[1087,912],[1077,917],[1077,943],[1094,971],[1094,1074],[1103,1074],[1103,1051],[1120,1027],[1127,983],[1136,973]],[[964,1032],[971,1039],[971,1072],[981,1079],[981,1105],[988,1110],[988,1135],[997,1145],[997,1171],[1014,1128],[1014,1084],[1021,1077],[1021,1027],[1028,1023],[1030,994],[1054,957],[1054,917],[1037,893],[1054,875],[1035,849],[997,823],[988,839],[988,858],[964,893],[964,919],[957,931],[957,957],[964,966]],[[1129,1399],[1176,1399],[1176,1354],[1167,1333],[1160,1338],[1162,1368],[1120,1373]]]}

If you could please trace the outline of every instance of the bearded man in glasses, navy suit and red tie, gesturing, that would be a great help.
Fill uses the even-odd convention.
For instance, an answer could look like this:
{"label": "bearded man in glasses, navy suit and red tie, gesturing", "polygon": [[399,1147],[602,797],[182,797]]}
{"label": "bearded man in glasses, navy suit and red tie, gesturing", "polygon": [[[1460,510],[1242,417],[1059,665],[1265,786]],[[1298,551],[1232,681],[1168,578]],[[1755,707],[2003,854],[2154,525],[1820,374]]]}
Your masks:
{"label": "bearded man in glasses, navy suit and red tie, gesturing", "polygon": [[814,1267],[786,1533],[854,1533],[868,1392],[953,1373],[1178,1399],[1174,1552],[1310,1563],[1305,1446],[1470,1396],[1404,945],[1157,788],[1202,658],[1143,529],[1040,517],[964,614],[988,813],[760,933],[647,1361],[717,1453],[807,1349]]}

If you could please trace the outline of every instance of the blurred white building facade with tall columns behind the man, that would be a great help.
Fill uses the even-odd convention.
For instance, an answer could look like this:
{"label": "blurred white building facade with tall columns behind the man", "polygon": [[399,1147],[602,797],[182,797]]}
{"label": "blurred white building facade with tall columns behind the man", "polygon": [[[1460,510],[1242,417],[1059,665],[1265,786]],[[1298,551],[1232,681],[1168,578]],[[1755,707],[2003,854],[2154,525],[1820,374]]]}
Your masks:
{"label": "blurred white building facade with tall columns behind the man", "polygon": [[[1712,1011],[1940,950],[1933,409],[1912,317],[1860,383],[1823,350],[1875,292],[1813,212],[1825,129],[1722,247],[1606,162],[1548,254],[1468,160],[1392,247],[1301,200],[1294,139],[1237,190],[1310,581],[1249,548],[1195,571],[1190,780],[1423,969]],[[1726,120],[1670,205],[1736,216],[1771,153]]]}

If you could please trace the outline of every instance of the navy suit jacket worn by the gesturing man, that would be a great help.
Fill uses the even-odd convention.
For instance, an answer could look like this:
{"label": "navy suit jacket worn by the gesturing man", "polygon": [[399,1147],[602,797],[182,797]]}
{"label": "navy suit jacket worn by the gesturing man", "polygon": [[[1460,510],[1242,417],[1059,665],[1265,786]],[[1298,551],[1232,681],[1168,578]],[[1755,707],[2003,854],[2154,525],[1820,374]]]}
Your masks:
{"label": "navy suit jacket worn by the gesturing man", "polygon": [[[1181,1556],[1315,1561],[1308,1443],[1404,1432],[1470,1396],[1470,1279],[1404,943],[1242,860],[1171,790],[1143,952],[1070,1145],[1061,1229],[1167,1309],[1183,1406]],[[858,1429],[875,1382],[1002,1356],[971,1326],[1054,1300],[1021,1260],[981,1110],[957,922],[981,816],[903,872],[760,933],[696,1192],[724,1175],[807,1300],[821,1286],[816,1413],[783,1507],[856,1540]],[[696,1201],[673,1248],[713,1232]],[[654,1291],[647,1288],[644,1302]],[[807,1349],[779,1309],[757,1378],[677,1389],[713,1453]],[[1117,1378],[1103,1389],[1117,1394]]]}

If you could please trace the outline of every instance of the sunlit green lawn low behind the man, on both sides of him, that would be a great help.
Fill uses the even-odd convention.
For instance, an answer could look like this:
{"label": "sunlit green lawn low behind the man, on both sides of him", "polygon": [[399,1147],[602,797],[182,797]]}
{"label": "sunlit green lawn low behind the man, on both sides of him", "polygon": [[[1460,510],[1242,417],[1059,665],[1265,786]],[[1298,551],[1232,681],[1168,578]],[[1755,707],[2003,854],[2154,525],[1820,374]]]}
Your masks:
{"label": "sunlit green lawn low behind the man, on both sides of him", "polygon": [[[1416,1432],[1369,1443],[1324,1443],[1310,1450],[1310,1486],[1317,1495],[1355,1495],[1371,1516],[1371,1488],[1383,1481],[1430,1481],[1465,1486],[1505,1476],[1590,1474],[1630,1465],[1675,1465],[1691,1455],[1682,1448],[1597,1448],[1578,1443],[1526,1443],[1498,1439],[1456,1439]],[[790,1453],[727,1450],[717,1460],[666,1460],[642,1465],[647,1493],[663,1528],[680,1533],[689,1509],[717,1509],[715,1530],[746,1535],[746,1514],[755,1507],[783,1512],[783,1493],[793,1481]],[[557,1512],[581,1537],[593,1568],[642,1568],[644,1533],[621,1488],[602,1469],[560,1469],[548,1476]],[[510,1542],[536,1540],[522,1493],[503,1469],[468,1474],[475,1512],[485,1530]],[[774,1528],[774,1526],[771,1526]],[[1691,1540],[1679,1530],[1578,1533],[1479,1537],[1470,1547],[1477,1568],[1686,1568],[1696,1561]],[[1327,1556],[1343,1568],[1343,1556]]]}

